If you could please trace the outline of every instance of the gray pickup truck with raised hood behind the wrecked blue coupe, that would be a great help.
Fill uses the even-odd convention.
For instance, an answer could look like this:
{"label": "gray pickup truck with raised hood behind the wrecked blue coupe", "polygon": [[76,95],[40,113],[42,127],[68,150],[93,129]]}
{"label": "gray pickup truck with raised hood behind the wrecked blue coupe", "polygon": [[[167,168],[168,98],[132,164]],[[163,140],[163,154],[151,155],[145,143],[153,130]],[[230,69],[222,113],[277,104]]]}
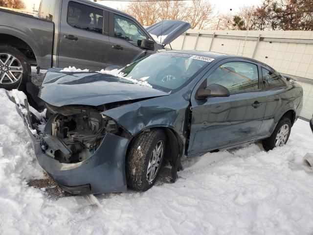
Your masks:
{"label": "gray pickup truck with raised hood behind the wrecked blue coupe", "polygon": [[125,66],[164,49],[190,27],[167,20],[144,28],[134,17],[90,0],[42,0],[38,17],[0,9],[0,88],[17,88],[30,66]]}

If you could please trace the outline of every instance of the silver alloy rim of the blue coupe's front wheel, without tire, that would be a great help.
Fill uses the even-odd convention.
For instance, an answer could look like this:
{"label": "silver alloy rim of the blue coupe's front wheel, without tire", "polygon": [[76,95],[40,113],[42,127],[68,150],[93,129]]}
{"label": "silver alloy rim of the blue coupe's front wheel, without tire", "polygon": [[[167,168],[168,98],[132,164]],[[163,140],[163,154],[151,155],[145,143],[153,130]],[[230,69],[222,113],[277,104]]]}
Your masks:
{"label": "silver alloy rim of the blue coupe's front wheel, without tire", "polygon": [[156,146],[153,149],[149,159],[146,174],[146,178],[149,183],[153,182],[154,179],[156,178],[156,174],[162,163],[163,154],[164,154],[164,141],[161,140],[156,143]]}

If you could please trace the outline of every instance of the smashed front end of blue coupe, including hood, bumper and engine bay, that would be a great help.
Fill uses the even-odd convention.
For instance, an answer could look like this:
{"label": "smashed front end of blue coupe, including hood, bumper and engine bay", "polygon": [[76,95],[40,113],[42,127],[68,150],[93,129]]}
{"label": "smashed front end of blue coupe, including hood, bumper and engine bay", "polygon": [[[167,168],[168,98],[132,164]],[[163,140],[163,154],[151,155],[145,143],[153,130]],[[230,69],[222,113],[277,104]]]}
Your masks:
{"label": "smashed front end of blue coupe, including hood, bumper and engine bay", "polygon": [[7,92],[28,127],[39,164],[72,194],[127,190],[125,156],[132,136],[103,113],[164,94],[119,79],[48,71],[39,94],[45,101],[42,113],[28,104],[22,92]]}

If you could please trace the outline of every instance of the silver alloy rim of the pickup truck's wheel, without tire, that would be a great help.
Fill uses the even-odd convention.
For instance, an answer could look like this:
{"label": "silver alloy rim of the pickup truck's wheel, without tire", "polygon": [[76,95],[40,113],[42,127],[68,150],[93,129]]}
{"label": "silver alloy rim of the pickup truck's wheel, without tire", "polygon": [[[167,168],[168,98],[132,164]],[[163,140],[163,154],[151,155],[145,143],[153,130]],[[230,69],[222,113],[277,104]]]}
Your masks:
{"label": "silver alloy rim of the pickup truck's wheel, without tire", "polygon": [[11,54],[0,53],[0,84],[12,84],[23,75],[21,62]]}

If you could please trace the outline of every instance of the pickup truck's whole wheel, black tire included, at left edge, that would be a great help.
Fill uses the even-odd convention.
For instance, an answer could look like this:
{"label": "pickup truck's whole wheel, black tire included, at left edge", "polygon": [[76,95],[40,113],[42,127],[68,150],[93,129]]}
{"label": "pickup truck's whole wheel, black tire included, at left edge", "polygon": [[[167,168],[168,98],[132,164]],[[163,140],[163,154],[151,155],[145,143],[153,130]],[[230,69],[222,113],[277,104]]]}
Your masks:
{"label": "pickup truck's whole wheel, black tire included, at left edge", "polygon": [[15,47],[0,45],[0,88],[17,89],[31,68],[25,55]]}

